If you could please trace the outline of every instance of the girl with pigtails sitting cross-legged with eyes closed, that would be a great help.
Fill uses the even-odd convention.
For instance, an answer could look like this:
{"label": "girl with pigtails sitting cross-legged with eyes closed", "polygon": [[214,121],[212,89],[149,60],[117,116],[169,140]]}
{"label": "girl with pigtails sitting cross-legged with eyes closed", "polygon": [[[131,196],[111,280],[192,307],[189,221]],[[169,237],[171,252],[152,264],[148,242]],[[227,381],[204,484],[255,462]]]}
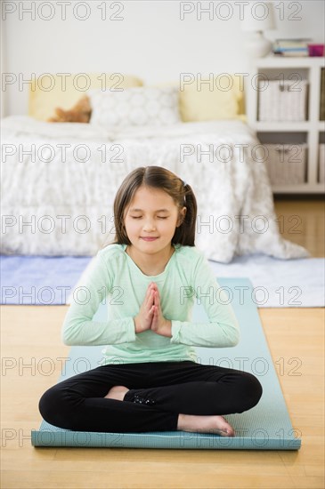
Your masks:
{"label": "girl with pigtails sitting cross-legged with eyes closed", "polygon": [[[66,345],[106,345],[102,365],[48,389],[45,421],[100,432],[176,430],[233,437],[223,414],[262,396],[251,373],[200,365],[193,347],[235,346],[239,324],[194,244],[191,186],[160,166],[136,168],[114,201],[116,236],[91,262],[64,318]],[[110,317],[93,321],[110,297]],[[208,323],[191,321],[194,299]]]}

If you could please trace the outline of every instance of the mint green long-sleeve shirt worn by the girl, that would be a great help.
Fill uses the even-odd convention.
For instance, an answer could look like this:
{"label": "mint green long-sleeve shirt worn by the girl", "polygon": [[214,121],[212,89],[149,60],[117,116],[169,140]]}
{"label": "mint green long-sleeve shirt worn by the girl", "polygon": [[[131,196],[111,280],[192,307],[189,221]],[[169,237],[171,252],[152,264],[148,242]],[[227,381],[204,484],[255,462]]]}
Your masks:
{"label": "mint green long-sleeve shirt worn by the girl", "polygon": [[[134,317],[150,282],[158,285],[163,317],[171,321],[172,337],[151,330],[135,333]],[[105,321],[93,321],[101,302]],[[208,322],[194,322],[195,301]],[[100,250],[73,293],[62,325],[66,345],[105,345],[102,365],[161,361],[197,361],[193,347],[232,347],[240,328],[229,297],[218,285],[205,255],[196,246],[175,244],[164,271],[147,276],[126,253],[126,244]]]}

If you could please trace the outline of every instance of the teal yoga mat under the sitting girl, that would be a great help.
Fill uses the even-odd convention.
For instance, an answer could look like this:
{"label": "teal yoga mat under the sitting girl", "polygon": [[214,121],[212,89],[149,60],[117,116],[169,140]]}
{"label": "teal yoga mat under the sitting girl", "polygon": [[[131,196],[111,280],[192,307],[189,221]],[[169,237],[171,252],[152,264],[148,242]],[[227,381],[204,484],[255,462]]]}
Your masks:
{"label": "teal yoga mat under the sitting girl", "polygon": [[[288,409],[260,322],[254,289],[248,278],[217,277],[240,321],[241,339],[236,347],[223,349],[197,348],[198,363],[235,368],[256,375],[263,387],[259,403],[245,413],[227,414],[224,418],[235,429],[235,437],[220,437],[186,431],[143,433],[96,433],[60,429],[42,421],[31,432],[34,446],[95,446],[118,448],[169,449],[239,449],[298,450],[299,429],[292,427]],[[93,319],[105,319],[101,304]],[[193,320],[207,320],[203,306],[195,304]],[[72,347],[60,381],[99,366],[100,347]],[[297,374],[297,373],[296,373]]]}

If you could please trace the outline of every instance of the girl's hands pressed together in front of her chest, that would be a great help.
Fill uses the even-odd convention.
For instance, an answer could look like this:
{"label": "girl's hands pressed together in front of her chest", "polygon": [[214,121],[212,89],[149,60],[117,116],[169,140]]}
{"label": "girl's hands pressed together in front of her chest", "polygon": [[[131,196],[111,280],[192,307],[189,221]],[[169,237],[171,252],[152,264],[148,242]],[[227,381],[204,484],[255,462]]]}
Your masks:
{"label": "girl's hands pressed together in front of her chest", "polygon": [[134,317],[135,333],[151,330],[161,336],[172,337],[172,323],[162,315],[158,286],[150,282],[139,313]]}

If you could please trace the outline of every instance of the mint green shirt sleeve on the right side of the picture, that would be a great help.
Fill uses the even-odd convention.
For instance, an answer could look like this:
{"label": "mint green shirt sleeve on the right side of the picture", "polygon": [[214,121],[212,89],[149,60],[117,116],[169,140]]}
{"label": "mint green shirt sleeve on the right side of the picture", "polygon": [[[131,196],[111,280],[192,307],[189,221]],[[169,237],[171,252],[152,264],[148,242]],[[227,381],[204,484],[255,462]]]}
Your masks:
{"label": "mint green shirt sleeve on the right side of the picture", "polygon": [[172,320],[171,343],[198,347],[233,347],[240,341],[240,325],[228,295],[216,281],[206,257],[201,254],[194,269],[193,293],[207,312],[208,323]]}

